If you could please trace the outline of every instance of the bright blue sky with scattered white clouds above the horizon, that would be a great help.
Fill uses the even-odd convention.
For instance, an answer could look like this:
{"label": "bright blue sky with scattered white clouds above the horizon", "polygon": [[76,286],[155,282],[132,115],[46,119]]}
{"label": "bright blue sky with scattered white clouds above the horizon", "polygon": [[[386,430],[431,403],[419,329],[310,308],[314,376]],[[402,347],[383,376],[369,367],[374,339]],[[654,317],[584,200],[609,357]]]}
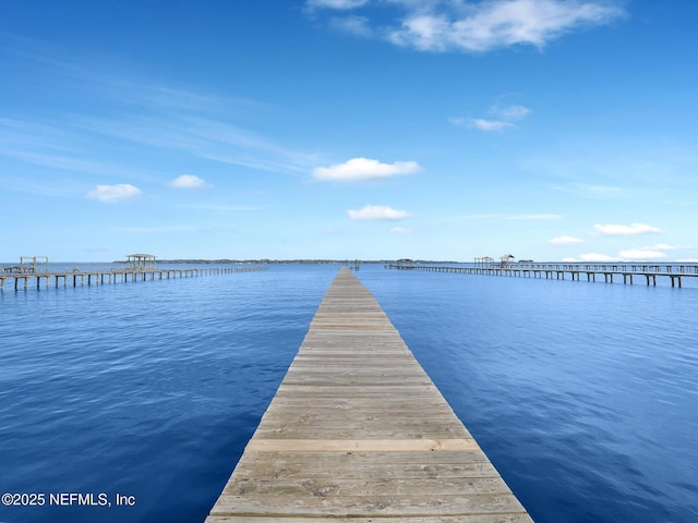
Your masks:
{"label": "bright blue sky with scattered white clouds above the horizon", "polygon": [[698,260],[695,0],[0,0],[0,260]]}

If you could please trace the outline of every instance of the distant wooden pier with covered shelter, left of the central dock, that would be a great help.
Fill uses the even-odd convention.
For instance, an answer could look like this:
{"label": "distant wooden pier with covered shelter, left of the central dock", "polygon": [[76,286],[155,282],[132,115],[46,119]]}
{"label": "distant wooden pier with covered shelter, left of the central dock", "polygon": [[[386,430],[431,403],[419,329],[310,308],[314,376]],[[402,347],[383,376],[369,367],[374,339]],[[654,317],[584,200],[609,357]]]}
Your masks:
{"label": "distant wooden pier with covered shelter, left of the central dock", "polygon": [[128,281],[164,280],[171,278],[190,278],[195,276],[228,275],[232,272],[248,272],[267,270],[268,267],[212,267],[212,268],[172,268],[172,269],[111,269],[94,271],[63,271],[63,272],[0,272],[0,291],[5,290],[5,280],[14,283],[14,290],[28,289],[34,283],[36,289],[41,283],[51,287],[104,285],[108,283],[125,283]]}

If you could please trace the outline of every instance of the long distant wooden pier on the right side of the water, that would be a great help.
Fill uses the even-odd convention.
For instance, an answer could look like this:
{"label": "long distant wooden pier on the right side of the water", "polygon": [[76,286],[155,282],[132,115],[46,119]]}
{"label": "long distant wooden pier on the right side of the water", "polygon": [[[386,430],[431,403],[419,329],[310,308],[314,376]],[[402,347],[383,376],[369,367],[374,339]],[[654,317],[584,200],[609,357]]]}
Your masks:
{"label": "long distant wooden pier on the right side of the water", "polygon": [[574,281],[580,281],[585,275],[587,281],[597,281],[603,277],[606,283],[613,283],[613,277],[623,278],[623,283],[634,283],[637,278],[647,284],[657,285],[657,278],[671,279],[672,287],[682,287],[682,278],[698,278],[697,264],[493,264],[449,267],[445,265],[387,264],[386,269],[425,270],[431,272],[457,272],[465,275],[509,276],[520,278],[543,278],[564,280],[565,275]]}

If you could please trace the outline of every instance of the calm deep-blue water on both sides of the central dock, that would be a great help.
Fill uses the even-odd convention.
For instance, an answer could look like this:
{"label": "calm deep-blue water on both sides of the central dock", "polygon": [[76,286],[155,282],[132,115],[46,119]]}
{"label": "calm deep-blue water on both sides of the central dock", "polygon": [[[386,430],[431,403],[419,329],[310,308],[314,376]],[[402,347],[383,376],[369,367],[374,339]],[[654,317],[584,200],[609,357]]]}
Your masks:
{"label": "calm deep-blue water on both sides of the central dock", "polygon": [[[335,275],[0,293],[0,522],[201,523]],[[698,521],[698,289],[357,275],[537,522]]]}

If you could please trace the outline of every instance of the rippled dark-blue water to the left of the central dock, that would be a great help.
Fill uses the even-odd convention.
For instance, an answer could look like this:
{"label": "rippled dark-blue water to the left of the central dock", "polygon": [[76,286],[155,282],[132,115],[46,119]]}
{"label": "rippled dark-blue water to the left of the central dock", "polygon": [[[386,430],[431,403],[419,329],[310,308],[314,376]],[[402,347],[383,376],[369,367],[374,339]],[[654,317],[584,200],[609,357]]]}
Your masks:
{"label": "rippled dark-blue water to the left of the central dock", "polygon": [[[0,507],[0,521],[203,521],[335,273],[1,293],[0,491],[47,500]],[[49,506],[50,492],[112,506]]]}

